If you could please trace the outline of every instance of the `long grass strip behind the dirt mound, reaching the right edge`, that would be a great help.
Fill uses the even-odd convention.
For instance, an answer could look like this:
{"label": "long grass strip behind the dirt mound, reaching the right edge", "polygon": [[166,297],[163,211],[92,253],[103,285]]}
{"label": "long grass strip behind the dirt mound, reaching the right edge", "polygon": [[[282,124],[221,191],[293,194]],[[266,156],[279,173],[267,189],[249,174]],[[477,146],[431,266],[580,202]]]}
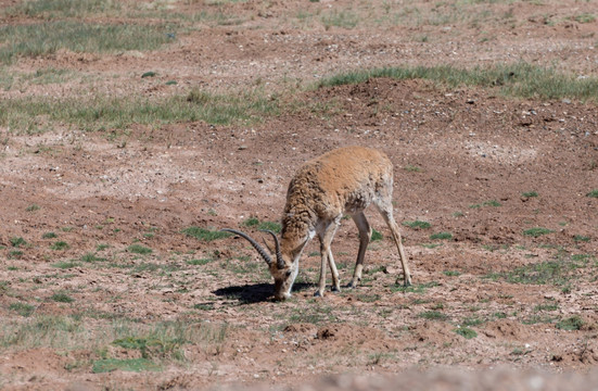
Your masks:
{"label": "long grass strip behind the dirt mound, reaching the right edge", "polygon": [[499,89],[505,96],[554,100],[572,98],[598,100],[598,78],[577,78],[576,74],[563,74],[524,62],[489,67],[461,68],[453,65],[384,67],[345,72],[323,78],[318,87],[331,87],[365,83],[371,78],[428,79],[450,88],[480,86]]}

